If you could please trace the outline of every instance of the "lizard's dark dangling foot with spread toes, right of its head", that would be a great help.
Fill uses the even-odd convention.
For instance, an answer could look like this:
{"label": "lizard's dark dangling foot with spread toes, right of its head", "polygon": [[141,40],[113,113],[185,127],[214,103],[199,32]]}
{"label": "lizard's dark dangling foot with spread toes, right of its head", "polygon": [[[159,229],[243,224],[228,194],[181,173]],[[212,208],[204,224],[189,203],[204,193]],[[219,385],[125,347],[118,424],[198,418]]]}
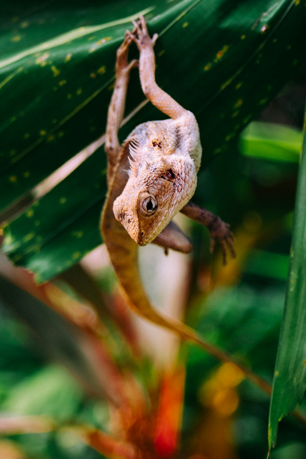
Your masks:
{"label": "lizard's dark dangling foot with spread toes, right of its head", "polygon": [[222,247],[223,265],[225,266],[227,264],[227,247],[229,248],[231,257],[236,258],[236,252],[233,244],[235,238],[234,234],[229,229],[230,225],[223,222],[223,220],[216,215],[211,223],[207,225],[207,228],[211,235],[211,253],[215,249],[215,240],[217,238]]}

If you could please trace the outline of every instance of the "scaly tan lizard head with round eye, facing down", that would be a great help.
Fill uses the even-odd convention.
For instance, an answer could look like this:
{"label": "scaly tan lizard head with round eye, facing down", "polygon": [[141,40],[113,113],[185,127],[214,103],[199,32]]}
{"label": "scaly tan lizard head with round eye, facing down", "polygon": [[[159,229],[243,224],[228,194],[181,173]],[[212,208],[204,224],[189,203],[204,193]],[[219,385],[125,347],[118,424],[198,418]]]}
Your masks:
{"label": "scaly tan lizard head with round eye, facing down", "polygon": [[195,164],[189,156],[167,155],[140,165],[131,162],[127,184],[113,212],[131,238],[145,246],[187,204],[195,187]]}

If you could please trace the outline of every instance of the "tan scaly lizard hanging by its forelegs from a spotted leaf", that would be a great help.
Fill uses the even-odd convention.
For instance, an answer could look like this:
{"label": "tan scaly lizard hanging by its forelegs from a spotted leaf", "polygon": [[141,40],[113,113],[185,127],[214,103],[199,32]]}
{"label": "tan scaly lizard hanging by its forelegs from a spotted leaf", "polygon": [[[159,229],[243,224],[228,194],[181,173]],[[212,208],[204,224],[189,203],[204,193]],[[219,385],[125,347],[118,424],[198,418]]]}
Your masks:
{"label": "tan scaly lizard hanging by its forelegs from a spotted leaf", "polygon": [[[178,320],[163,316],[151,305],[141,283],[138,246],[156,243],[189,253],[192,244],[172,222],[182,212],[204,224],[211,234],[211,251],[217,237],[222,244],[223,263],[227,245],[235,257],[234,236],[229,225],[210,211],[190,202],[195,192],[202,147],[193,113],[163,91],[155,80],[154,45],[144,17],[133,21],[117,50],[116,80],[108,109],[105,150],[108,159],[108,193],[100,219],[100,230],[112,266],[128,305],[157,325],[176,332],[182,339],[197,342],[217,358],[224,353],[211,347],[198,333]],[[136,43],[139,60],[128,62],[130,44]],[[123,119],[129,74],[139,67],[144,95],[169,118],[137,126],[120,146],[118,130]]]}

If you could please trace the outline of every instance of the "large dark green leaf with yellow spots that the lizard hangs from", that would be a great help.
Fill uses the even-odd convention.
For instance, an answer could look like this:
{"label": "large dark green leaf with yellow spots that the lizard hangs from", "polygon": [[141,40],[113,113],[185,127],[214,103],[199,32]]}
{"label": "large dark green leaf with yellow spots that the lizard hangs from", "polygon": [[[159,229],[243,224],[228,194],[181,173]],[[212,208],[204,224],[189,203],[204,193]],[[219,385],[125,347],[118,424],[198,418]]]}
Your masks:
{"label": "large dark green leaf with yellow spots that the lizard hangs from", "polygon": [[[306,8],[299,1],[91,0],[72,7],[66,0],[24,7],[15,22],[9,8],[0,37],[6,50],[0,62],[6,106],[0,123],[0,208],[103,134],[116,49],[141,10],[149,12],[150,33],[160,34],[158,83],[197,115],[203,166],[227,150],[306,56]],[[127,113],[143,100],[134,71]],[[151,104],[141,106],[123,125],[121,138],[156,118],[161,113]],[[103,171],[100,149],[6,226],[9,257],[44,281],[98,245]]]}

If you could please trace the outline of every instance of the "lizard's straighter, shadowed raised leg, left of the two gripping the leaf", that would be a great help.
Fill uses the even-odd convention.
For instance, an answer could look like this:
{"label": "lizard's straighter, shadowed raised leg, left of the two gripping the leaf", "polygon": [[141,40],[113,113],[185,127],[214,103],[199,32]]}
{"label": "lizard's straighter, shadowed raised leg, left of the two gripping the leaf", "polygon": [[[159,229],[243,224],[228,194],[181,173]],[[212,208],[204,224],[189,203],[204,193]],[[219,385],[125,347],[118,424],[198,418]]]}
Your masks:
{"label": "lizard's straighter, shadowed raised leg, left of the two gripping the leaf", "polygon": [[107,155],[107,183],[111,179],[113,169],[117,164],[121,146],[118,140],[118,130],[122,122],[125,100],[128,89],[130,70],[138,65],[137,60],[128,62],[128,48],[132,43],[130,34],[126,33],[124,41],[117,50],[116,81],[111,96],[110,106],[107,113],[105,151]]}

